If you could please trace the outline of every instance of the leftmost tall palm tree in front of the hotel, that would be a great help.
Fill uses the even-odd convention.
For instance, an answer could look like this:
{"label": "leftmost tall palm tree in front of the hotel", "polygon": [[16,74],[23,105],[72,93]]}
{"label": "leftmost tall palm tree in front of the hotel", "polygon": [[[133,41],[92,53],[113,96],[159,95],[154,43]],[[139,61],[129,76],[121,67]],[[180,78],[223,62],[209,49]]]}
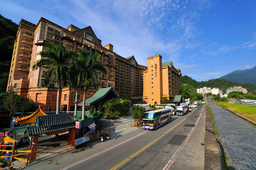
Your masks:
{"label": "leftmost tall palm tree in front of the hotel", "polygon": [[47,85],[49,82],[57,82],[57,103],[56,103],[56,114],[60,110],[60,87],[61,83],[65,85],[68,77],[68,64],[70,58],[74,55],[74,52],[67,51],[63,43],[60,46],[54,46],[46,44],[47,50],[40,52],[42,59],[37,60],[33,65],[32,69],[38,69],[42,66],[50,66],[44,74],[44,84]]}

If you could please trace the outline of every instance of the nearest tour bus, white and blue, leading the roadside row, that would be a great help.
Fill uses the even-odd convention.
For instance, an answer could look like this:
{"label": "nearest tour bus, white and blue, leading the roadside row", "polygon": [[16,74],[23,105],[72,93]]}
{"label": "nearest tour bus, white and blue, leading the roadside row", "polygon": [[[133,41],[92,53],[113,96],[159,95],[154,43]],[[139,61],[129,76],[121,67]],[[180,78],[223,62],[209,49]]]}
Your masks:
{"label": "nearest tour bus, white and blue, leading the roadside row", "polygon": [[172,109],[164,108],[161,110],[147,111],[143,113],[143,126],[145,130],[154,130],[161,125],[170,122],[172,119]]}

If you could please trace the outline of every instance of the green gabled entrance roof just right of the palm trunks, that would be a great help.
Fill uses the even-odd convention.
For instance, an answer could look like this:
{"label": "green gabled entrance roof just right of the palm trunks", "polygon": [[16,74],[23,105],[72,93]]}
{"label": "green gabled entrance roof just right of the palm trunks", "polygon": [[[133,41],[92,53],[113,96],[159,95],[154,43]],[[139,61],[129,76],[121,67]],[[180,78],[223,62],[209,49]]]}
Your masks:
{"label": "green gabled entrance roof just right of the palm trunks", "polygon": [[[117,96],[115,90],[112,87],[107,87],[103,89],[99,89],[92,97],[85,100],[85,106],[91,106],[98,101],[104,99],[105,97],[119,97]],[[83,106],[83,101],[77,104],[77,106]]]}

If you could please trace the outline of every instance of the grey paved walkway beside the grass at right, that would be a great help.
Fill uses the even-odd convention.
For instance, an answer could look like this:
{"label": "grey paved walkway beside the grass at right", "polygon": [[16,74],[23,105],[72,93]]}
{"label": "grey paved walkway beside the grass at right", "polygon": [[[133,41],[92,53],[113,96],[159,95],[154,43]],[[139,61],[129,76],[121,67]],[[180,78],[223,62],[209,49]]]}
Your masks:
{"label": "grey paved walkway beside the grass at right", "polygon": [[235,169],[256,169],[256,129],[215,103],[209,102],[216,129]]}

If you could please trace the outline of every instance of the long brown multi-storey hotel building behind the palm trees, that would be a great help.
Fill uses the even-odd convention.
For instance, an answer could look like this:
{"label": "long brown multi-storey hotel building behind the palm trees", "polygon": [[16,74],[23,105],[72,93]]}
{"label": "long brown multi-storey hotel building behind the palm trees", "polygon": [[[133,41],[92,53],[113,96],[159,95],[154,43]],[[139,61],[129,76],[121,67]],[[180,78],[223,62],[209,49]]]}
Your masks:
{"label": "long brown multi-storey hotel building behind the palm trees", "polygon": [[[6,91],[28,97],[37,105],[41,105],[44,111],[56,110],[56,83],[49,83],[47,86],[42,83],[44,73],[49,66],[40,67],[35,71],[31,68],[36,60],[41,59],[38,53],[46,49],[46,43],[60,45],[61,42],[68,50],[74,52],[88,46],[100,53],[99,62],[107,70],[107,73],[100,73],[100,88],[113,87],[118,96],[122,98],[143,99],[143,89],[145,91],[143,74],[147,76],[143,71],[148,68],[138,64],[133,55],[124,58],[113,52],[113,45],[102,46],[101,40],[97,38],[90,26],[79,29],[71,24],[65,29],[45,18],[40,18],[36,25],[23,19],[20,20]],[[148,66],[151,67],[151,65]],[[170,68],[172,70],[172,67],[168,66],[168,70]],[[180,81],[180,77],[177,81]],[[175,85],[175,88],[177,89],[170,92],[179,94],[180,85]],[[94,93],[94,89],[89,89],[86,98]],[[83,92],[80,91],[77,96],[79,102],[83,101],[82,94]],[[74,98],[75,92],[68,87],[62,87],[61,110],[74,110]]]}

